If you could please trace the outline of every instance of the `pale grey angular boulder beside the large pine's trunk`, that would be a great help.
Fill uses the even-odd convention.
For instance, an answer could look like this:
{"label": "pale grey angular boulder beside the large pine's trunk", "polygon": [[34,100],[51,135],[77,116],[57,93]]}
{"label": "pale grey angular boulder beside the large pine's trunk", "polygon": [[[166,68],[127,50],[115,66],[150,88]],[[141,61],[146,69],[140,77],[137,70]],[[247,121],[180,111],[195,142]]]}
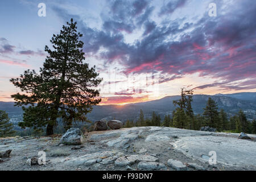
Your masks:
{"label": "pale grey angular boulder beside the large pine's trunk", "polygon": [[85,142],[84,135],[80,129],[72,127],[60,139],[60,143],[72,145],[82,144]]}

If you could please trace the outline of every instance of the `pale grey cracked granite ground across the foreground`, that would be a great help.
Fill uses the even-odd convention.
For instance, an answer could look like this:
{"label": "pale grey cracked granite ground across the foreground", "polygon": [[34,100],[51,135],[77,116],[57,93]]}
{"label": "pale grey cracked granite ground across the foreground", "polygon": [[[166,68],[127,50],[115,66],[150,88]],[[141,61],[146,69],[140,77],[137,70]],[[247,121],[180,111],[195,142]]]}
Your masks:
{"label": "pale grey cracked granite ground across the foreground", "polygon": [[[171,127],[86,133],[81,146],[59,144],[52,137],[0,138],[0,152],[12,150],[0,160],[1,170],[256,170],[256,135],[212,133]],[[75,147],[75,148],[74,148]],[[28,158],[46,152],[46,164],[30,166]],[[209,164],[209,152],[217,164]]]}

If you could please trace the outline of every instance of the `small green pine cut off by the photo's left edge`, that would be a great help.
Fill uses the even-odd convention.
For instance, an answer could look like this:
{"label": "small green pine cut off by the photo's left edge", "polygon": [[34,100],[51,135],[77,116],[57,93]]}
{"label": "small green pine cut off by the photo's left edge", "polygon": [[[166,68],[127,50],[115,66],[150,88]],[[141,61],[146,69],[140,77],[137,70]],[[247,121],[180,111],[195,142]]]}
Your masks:
{"label": "small green pine cut off by the photo's left edge", "polygon": [[14,133],[13,123],[10,123],[8,114],[5,111],[0,110],[0,138],[9,137]]}

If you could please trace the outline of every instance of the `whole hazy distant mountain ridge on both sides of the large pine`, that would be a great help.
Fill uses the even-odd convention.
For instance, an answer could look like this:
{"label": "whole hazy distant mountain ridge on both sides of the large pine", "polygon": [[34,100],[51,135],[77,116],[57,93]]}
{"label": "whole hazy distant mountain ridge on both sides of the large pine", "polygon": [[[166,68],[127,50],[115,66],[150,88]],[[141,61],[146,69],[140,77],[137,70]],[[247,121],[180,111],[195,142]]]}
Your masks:
{"label": "whole hazy distant mountain ridge on both sides of the large pine", "polygon": [[[207,104],[208,98],[211,97],[218,104],[218,109],[224,109],[229,116],[236,114],[242,109],[248,119],[256,118],[256,93],[235,93],[235,94],[216,94],[214,96],[197,94],[193,96],[192,107],[195,114],[203,113],[203,108]],[[150,118],[152,111],[160,114],[163,119],[164,115],[172,114],[175,106],[172,101],[178,100],[180,96],[167,96],[159,100],[139,102],[127,105],[97,105],[93,106],[91,113],[87,114],[90,121],[98,119],[138,119],[139,111],[142,109],[145,118]],[[9,113],[11,121],[18,123],[22,121],[23,111],[21,107],[14,107],[14,102],[0,102],[0,110],[6,110]]]}

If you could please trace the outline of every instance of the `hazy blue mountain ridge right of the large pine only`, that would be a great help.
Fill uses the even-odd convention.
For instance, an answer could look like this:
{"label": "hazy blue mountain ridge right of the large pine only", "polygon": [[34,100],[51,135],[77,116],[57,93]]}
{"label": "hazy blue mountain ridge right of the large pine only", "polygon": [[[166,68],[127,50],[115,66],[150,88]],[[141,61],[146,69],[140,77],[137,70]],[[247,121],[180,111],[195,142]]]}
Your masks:
{"label": "hazy blue mountain ridge right of the large pine only", "polygon": [[[203,113],[203,108],[207,104],[208,98],[211,97],[218,104],[218,109],[224,109],[229,116],[236,114],[240,109],[245,111],[249,119],[256,117],[256,100],[240,100],[226,96],[209,96],[198,94],[193,96],[192,107],[195,114]],[[137,119],[139,111],[142,109],[144,117],[151,117],[152,111],[160,114],[163,119],[164,115],[172,114],[175,106],[172,101],[178,100],[180,96],[167,96],[159,100],[128,104],[124,106],[105,105],[94,106],[92,113],[88,114],[88,118],[92,121],[100,118],[115,118],[122,121],[126,119]]]}

